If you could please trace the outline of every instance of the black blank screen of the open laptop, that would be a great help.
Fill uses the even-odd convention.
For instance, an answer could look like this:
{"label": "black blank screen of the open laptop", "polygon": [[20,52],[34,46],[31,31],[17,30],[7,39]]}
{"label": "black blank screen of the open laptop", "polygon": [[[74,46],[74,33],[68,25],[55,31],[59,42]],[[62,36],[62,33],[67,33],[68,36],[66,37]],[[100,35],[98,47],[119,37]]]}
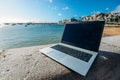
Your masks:
{"label": "black blank screen of the open laptop", "polygon": [[98,52],[104,21],[84,21],[66,24],[61,42]]}

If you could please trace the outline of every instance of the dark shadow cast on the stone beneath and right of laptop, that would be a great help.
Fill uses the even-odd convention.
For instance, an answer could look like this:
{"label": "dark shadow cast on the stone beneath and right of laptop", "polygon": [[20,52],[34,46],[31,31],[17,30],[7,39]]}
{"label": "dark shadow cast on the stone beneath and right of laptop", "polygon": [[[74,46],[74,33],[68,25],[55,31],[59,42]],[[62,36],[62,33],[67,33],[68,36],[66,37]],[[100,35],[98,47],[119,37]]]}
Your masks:
{"label": "dark shadow cast on the stone beneath and right of laptop", "polygon": [[74,71],[56,75],[51,80],[120,80],[120,53],[99,51],[86,77]]}

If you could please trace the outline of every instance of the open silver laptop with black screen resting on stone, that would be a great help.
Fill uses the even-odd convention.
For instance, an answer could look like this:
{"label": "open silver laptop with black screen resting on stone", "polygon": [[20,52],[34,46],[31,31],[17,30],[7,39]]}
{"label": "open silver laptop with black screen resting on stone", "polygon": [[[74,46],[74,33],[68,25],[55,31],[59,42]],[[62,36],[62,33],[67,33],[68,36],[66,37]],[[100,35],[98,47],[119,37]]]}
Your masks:
{"label": "open silver laptop with black screen resting on stone", "polygon": [[43,48],[40,52],[86,76],[98,54],[104,24],[104,21],[66,24],[61,42]]}

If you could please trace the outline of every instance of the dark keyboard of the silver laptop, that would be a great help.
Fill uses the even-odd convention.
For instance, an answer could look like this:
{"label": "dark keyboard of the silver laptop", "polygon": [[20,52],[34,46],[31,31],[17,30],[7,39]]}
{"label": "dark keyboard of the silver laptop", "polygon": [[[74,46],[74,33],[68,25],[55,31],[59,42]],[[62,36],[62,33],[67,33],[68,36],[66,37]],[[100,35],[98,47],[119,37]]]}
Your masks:
{"label": "dark keyboard of the silver laptop", "polygon": [[88,54],[88,53],[82,52],[82,51],[78,51],[78,50],[75,50],[75,49],[72,49],[72,48],[68,48],[68,47],[65,47],[65,46],[62,46],[62,45],[55,45],[51,48],[56,49],[58,51],[61,51],[63,53],[66,53],[70,56],[76,57],[76,58],[78,58],[80,60],[83,60],[85,62],[88,62],[89,59],[92,57],[91,54]]}

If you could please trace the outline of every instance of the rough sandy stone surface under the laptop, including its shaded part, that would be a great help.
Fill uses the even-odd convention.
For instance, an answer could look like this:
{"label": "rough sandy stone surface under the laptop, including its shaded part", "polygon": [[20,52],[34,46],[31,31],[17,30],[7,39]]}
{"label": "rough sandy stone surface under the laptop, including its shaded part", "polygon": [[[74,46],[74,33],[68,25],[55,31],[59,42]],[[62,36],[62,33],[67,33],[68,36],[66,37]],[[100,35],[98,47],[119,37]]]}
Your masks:
{"label": "rough sandy stone surface under the laptop, including its shaded part", "polygon": [[[113,42],[111,43],[112,39]],[[106,42],[107,40],[107,42]],[[120,36],[104,37],[99,55],[83,77],[39,52],[50,45],[0,51],[0,80],[120,80]]]}

